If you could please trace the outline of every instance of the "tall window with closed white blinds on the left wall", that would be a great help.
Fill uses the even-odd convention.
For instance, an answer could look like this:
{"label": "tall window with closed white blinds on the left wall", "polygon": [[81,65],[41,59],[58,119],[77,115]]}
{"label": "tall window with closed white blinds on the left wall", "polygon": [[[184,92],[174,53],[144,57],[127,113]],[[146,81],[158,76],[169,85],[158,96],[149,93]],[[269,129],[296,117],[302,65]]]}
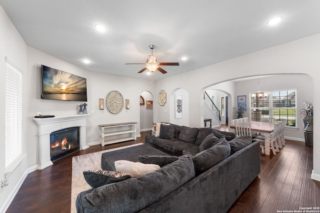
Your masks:
{"label": "tall window with closed white blinds on the left wall", "polygon": [[5,168],[22,154],[22,74],[5,58]]}

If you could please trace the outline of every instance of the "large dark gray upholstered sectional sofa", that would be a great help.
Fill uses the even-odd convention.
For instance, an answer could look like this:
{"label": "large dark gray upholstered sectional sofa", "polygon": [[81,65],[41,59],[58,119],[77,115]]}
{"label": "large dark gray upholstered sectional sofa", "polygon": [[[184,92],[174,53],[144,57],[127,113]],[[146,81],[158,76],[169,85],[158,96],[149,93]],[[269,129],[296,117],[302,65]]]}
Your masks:
{"label": "large dark gray upholstered sectional sofa", "polygon": [[[119,159],[167,159],[171,158],[167,154],[169,151],[176,156],[184,155],[173,156],[173,162],[162,165],[157,172],[80,193],[76,200],[77,212],[225,213],[259,174],[260,144],[251,143],[249,136],[231,139],[231,134],[217,132],[216,135],[226,135],[216,140],[212,147],[196,153],[204,139],[213,137],[210,130],[198,129],[194,143],[179,140],[186,138],[179,137],[176,131],[175,139],[146,136],[145,145],[102,154],[101,166],[104,170],[112,170],[114,161]],[[182,134],[185,134],[184,130]],[[194,135],[192,137],[193,141]],[[203,148],[206,147],[202,144]]]}

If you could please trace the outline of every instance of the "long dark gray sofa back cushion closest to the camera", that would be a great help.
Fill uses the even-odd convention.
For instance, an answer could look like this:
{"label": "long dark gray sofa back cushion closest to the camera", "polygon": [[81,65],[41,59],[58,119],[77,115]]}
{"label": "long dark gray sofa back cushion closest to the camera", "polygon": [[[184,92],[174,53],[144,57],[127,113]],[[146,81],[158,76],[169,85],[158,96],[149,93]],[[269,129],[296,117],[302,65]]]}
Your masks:
{"label": "long dark gray sofa back cushion closest to the camera", "polygon": [[193,179],[194,175],[192,159],[181,158],[155,173],[82,192],[77,196],[76,206],[78,210],[97,213],[139,212]]}

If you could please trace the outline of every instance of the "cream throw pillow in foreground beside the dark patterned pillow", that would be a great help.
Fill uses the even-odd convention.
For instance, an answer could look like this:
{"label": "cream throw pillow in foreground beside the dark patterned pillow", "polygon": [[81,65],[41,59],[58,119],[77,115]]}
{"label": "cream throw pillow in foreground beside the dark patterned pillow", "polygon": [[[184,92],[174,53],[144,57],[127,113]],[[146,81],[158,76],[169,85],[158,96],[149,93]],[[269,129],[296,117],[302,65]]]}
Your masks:
{"label": "cream throw pillow in foreground beside the dark patterned pillow", "polygon": [[125,160],[115,161],[114,167],[116,172],[128,173],[132,178],[153,173],[160,169],[160,167],[155,164],[142,164],[140,162]]}

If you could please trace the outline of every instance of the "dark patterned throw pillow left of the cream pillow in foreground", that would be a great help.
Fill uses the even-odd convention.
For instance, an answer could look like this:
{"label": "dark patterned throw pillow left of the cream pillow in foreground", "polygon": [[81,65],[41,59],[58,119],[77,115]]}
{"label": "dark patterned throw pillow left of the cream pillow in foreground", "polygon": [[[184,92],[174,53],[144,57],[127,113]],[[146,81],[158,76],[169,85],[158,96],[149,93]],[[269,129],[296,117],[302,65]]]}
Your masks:
{"label": "dark patterned throw pillow left of the cream pillow in foreground", "polygon": [[83,171],[83,176],[86,183],[88,183],[88,185],[90,185],[90,187],[93,189],[106,184],[116,183],[131,178],[131,176],[126,173],[103,170]]}

